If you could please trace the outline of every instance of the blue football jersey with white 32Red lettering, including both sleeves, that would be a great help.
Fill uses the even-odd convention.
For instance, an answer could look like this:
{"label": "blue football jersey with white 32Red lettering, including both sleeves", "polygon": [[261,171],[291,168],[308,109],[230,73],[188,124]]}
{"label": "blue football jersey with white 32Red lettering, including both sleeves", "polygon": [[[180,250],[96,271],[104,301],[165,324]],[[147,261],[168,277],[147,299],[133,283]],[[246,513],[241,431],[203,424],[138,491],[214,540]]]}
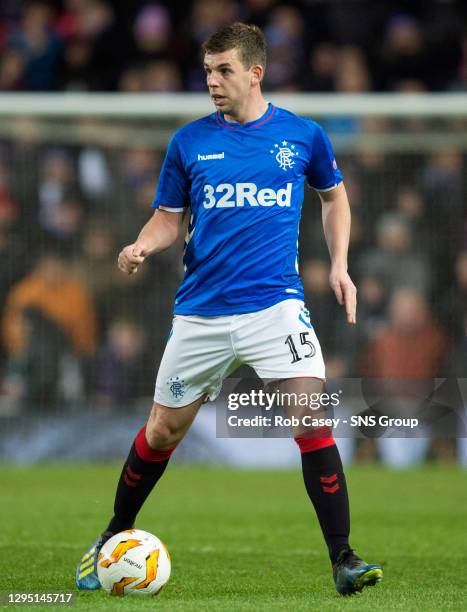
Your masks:
{"label": "blue football jersey with white 32Red lettering, including both sleeves", "polygon": [[230,123],[217,112],[174,134],[152,206],[189,209],[176,314],[240,314],[303,299],[305,180],[318,191],[342,181],[329,139],[314,121],[272,104],[256,121]]}

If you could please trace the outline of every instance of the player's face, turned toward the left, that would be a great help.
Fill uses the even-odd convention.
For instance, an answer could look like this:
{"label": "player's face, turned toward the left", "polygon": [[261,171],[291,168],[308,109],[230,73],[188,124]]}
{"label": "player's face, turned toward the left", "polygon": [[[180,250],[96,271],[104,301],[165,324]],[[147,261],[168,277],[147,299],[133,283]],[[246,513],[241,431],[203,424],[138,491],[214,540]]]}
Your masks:
{"label": "player's face, turned toward the left", "polygon": [[255,82],[255,66],[245,68],[238,50],[206,53],[204,69],[209,93],[218,110],[225,115],[238,114]]}

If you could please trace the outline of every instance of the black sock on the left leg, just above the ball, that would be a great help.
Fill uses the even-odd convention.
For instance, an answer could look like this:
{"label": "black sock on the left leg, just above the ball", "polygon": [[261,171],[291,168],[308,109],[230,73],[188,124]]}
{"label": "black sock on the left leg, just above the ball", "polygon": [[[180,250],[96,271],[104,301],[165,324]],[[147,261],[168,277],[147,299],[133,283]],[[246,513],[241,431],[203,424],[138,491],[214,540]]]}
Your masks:
{"label": "black sock on the left leg, just above the ball", "polygon": [[168,463],[169,459],[144,461],[139,457],[133,444],[120,474],[115,495],[114,517],[106,531],[118,533],[133,527],[136,515]]}

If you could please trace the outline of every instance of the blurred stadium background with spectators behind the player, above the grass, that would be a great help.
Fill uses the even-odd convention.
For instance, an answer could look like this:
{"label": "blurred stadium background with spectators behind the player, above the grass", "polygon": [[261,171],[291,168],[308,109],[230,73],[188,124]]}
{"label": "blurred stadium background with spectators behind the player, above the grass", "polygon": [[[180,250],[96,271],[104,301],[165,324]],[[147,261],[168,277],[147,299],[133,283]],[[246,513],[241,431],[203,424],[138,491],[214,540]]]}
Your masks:
{"label": "blurred stadium background with spectators behind the player, above the grass", "polygon": [[[272,101],[299,92],[412,99],[467,88],[462,2],[3,0],[0,91],[179,93],[183,100],[204,87],[200,42],[236,18],[264,28]],[[181,278],[181,244],[132,277],[115,262],[151,214],[167,139],[191,113],[95,118],[92,100],[81,103],[80,117],[15,115],[13,104],[0,117],[3,460],[123,458],[150,406]],[[349,113],[323,108],[314,116],[335,144],[353,209],[356,329],[346,326],[328,286],[311,190],[302,216],[301,274],[328,375],[465,377],[465,111],[404,116],[397,98],[398,116],[375,116],[365,111],[371,98],[360,113],[356,104]],[[205,407],[175,457],[298,461],[289,441],[263,442],[258,452],[251,440],[216,440]],[[397,457],[374,440],[344,446],[348,462],[467,464],[461,440],[428,441],[413,456],[406,446]]]}

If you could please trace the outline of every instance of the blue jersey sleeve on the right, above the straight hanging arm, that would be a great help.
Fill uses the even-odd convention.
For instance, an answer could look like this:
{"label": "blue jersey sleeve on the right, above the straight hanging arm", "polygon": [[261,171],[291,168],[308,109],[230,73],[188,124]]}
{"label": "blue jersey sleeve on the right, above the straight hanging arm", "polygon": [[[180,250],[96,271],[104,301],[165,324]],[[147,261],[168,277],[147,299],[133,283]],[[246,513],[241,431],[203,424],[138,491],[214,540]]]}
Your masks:
{"label": "blue jersey sleeve on the right, above the straight hanging arm", "polygon": [[317,123],[313,122],[312,126],[311,159],[306,171],[308,184],[317,191],[329,191],[342,181],[342,172],[337,167],[328,135]]}

